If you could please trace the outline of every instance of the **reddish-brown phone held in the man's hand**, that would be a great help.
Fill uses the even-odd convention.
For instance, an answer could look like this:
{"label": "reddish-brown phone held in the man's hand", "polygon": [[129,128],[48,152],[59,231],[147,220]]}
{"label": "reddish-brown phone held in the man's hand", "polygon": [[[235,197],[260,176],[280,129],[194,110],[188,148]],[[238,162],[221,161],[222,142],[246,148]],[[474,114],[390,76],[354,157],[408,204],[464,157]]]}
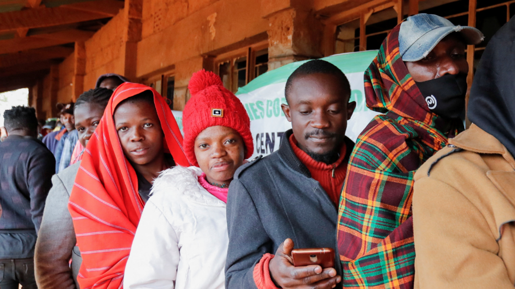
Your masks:
{"label": "reddish-brown phone held in the man's hand", "polygon": [[295,267],[320,265],[322,268],[334,268],[334,250],[331,248],[307,248],[291,251]]}

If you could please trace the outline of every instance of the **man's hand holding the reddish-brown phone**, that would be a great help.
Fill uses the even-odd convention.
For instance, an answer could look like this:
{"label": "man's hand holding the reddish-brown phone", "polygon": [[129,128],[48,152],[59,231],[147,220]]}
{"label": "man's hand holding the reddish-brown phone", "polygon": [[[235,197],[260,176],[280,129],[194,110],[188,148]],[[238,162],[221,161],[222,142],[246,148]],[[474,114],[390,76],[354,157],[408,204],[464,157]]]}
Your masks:
{"label": "man's hand holding the reddish-brown phone", "polygon": [[[310,288],[330,289],[341,281],[334,268],[322,268],[320,265],[294,266],[291,251],[294,243],[286,239],[270,260],[268,268],[272,281],[283,289]],[[334,252],[333,252],[334,254]],[[313,255],[313,254],[310,254]],[[309,255],[308,255],[309,257]],[[325,259],[324,257],[322,259]],[[334,260],[334,258],[333,258]],[[334,261],[333,261],[334,263]]]}

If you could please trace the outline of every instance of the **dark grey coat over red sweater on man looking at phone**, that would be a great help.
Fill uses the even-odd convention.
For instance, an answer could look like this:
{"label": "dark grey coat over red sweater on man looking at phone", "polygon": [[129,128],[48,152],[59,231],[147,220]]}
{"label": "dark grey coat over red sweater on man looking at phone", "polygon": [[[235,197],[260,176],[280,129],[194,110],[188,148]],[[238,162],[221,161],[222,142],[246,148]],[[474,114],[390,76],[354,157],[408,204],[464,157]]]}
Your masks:
{"label": "dark grey coat over red sweater on man looking at phone", "polygon": [[[292,133],[285,133],[277,152],[239,168],[231,182],[227,289],[256,288],[255,264],[264,254],[275,254],[287,238],[294,241],[295,248],[333,248],[336,271],[342,276],[336,244],[338,212],[295,155],[289,143]],[[349,154],[354,143],[348,138],[346,142]]]}

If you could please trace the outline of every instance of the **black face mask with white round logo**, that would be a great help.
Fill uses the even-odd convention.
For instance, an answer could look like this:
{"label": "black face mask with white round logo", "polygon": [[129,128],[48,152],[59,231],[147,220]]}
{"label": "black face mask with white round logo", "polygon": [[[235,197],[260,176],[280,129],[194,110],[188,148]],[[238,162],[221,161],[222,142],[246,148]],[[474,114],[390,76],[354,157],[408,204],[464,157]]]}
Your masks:
{"label": "black face mask with white round logo", "polygon": [[415,83],[433,113],[447,119],[465,116],[467,75],[446,74],[436,79]]}

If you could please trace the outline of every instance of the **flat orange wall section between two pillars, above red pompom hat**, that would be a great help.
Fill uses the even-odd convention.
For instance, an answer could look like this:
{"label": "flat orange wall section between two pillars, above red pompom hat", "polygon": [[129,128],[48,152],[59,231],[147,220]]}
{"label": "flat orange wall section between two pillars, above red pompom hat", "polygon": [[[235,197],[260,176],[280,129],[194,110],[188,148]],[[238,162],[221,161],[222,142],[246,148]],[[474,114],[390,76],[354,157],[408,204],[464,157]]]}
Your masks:
{"label": "flat orange wall section between two pillars, above red pompom hat", "polygon": [[[147,0],[143,3],[138,77],[195,56],[211,55],[268,29],[268,21],[261,17],[260,1]],[[215,53],[221,52],[226,51]]]}

